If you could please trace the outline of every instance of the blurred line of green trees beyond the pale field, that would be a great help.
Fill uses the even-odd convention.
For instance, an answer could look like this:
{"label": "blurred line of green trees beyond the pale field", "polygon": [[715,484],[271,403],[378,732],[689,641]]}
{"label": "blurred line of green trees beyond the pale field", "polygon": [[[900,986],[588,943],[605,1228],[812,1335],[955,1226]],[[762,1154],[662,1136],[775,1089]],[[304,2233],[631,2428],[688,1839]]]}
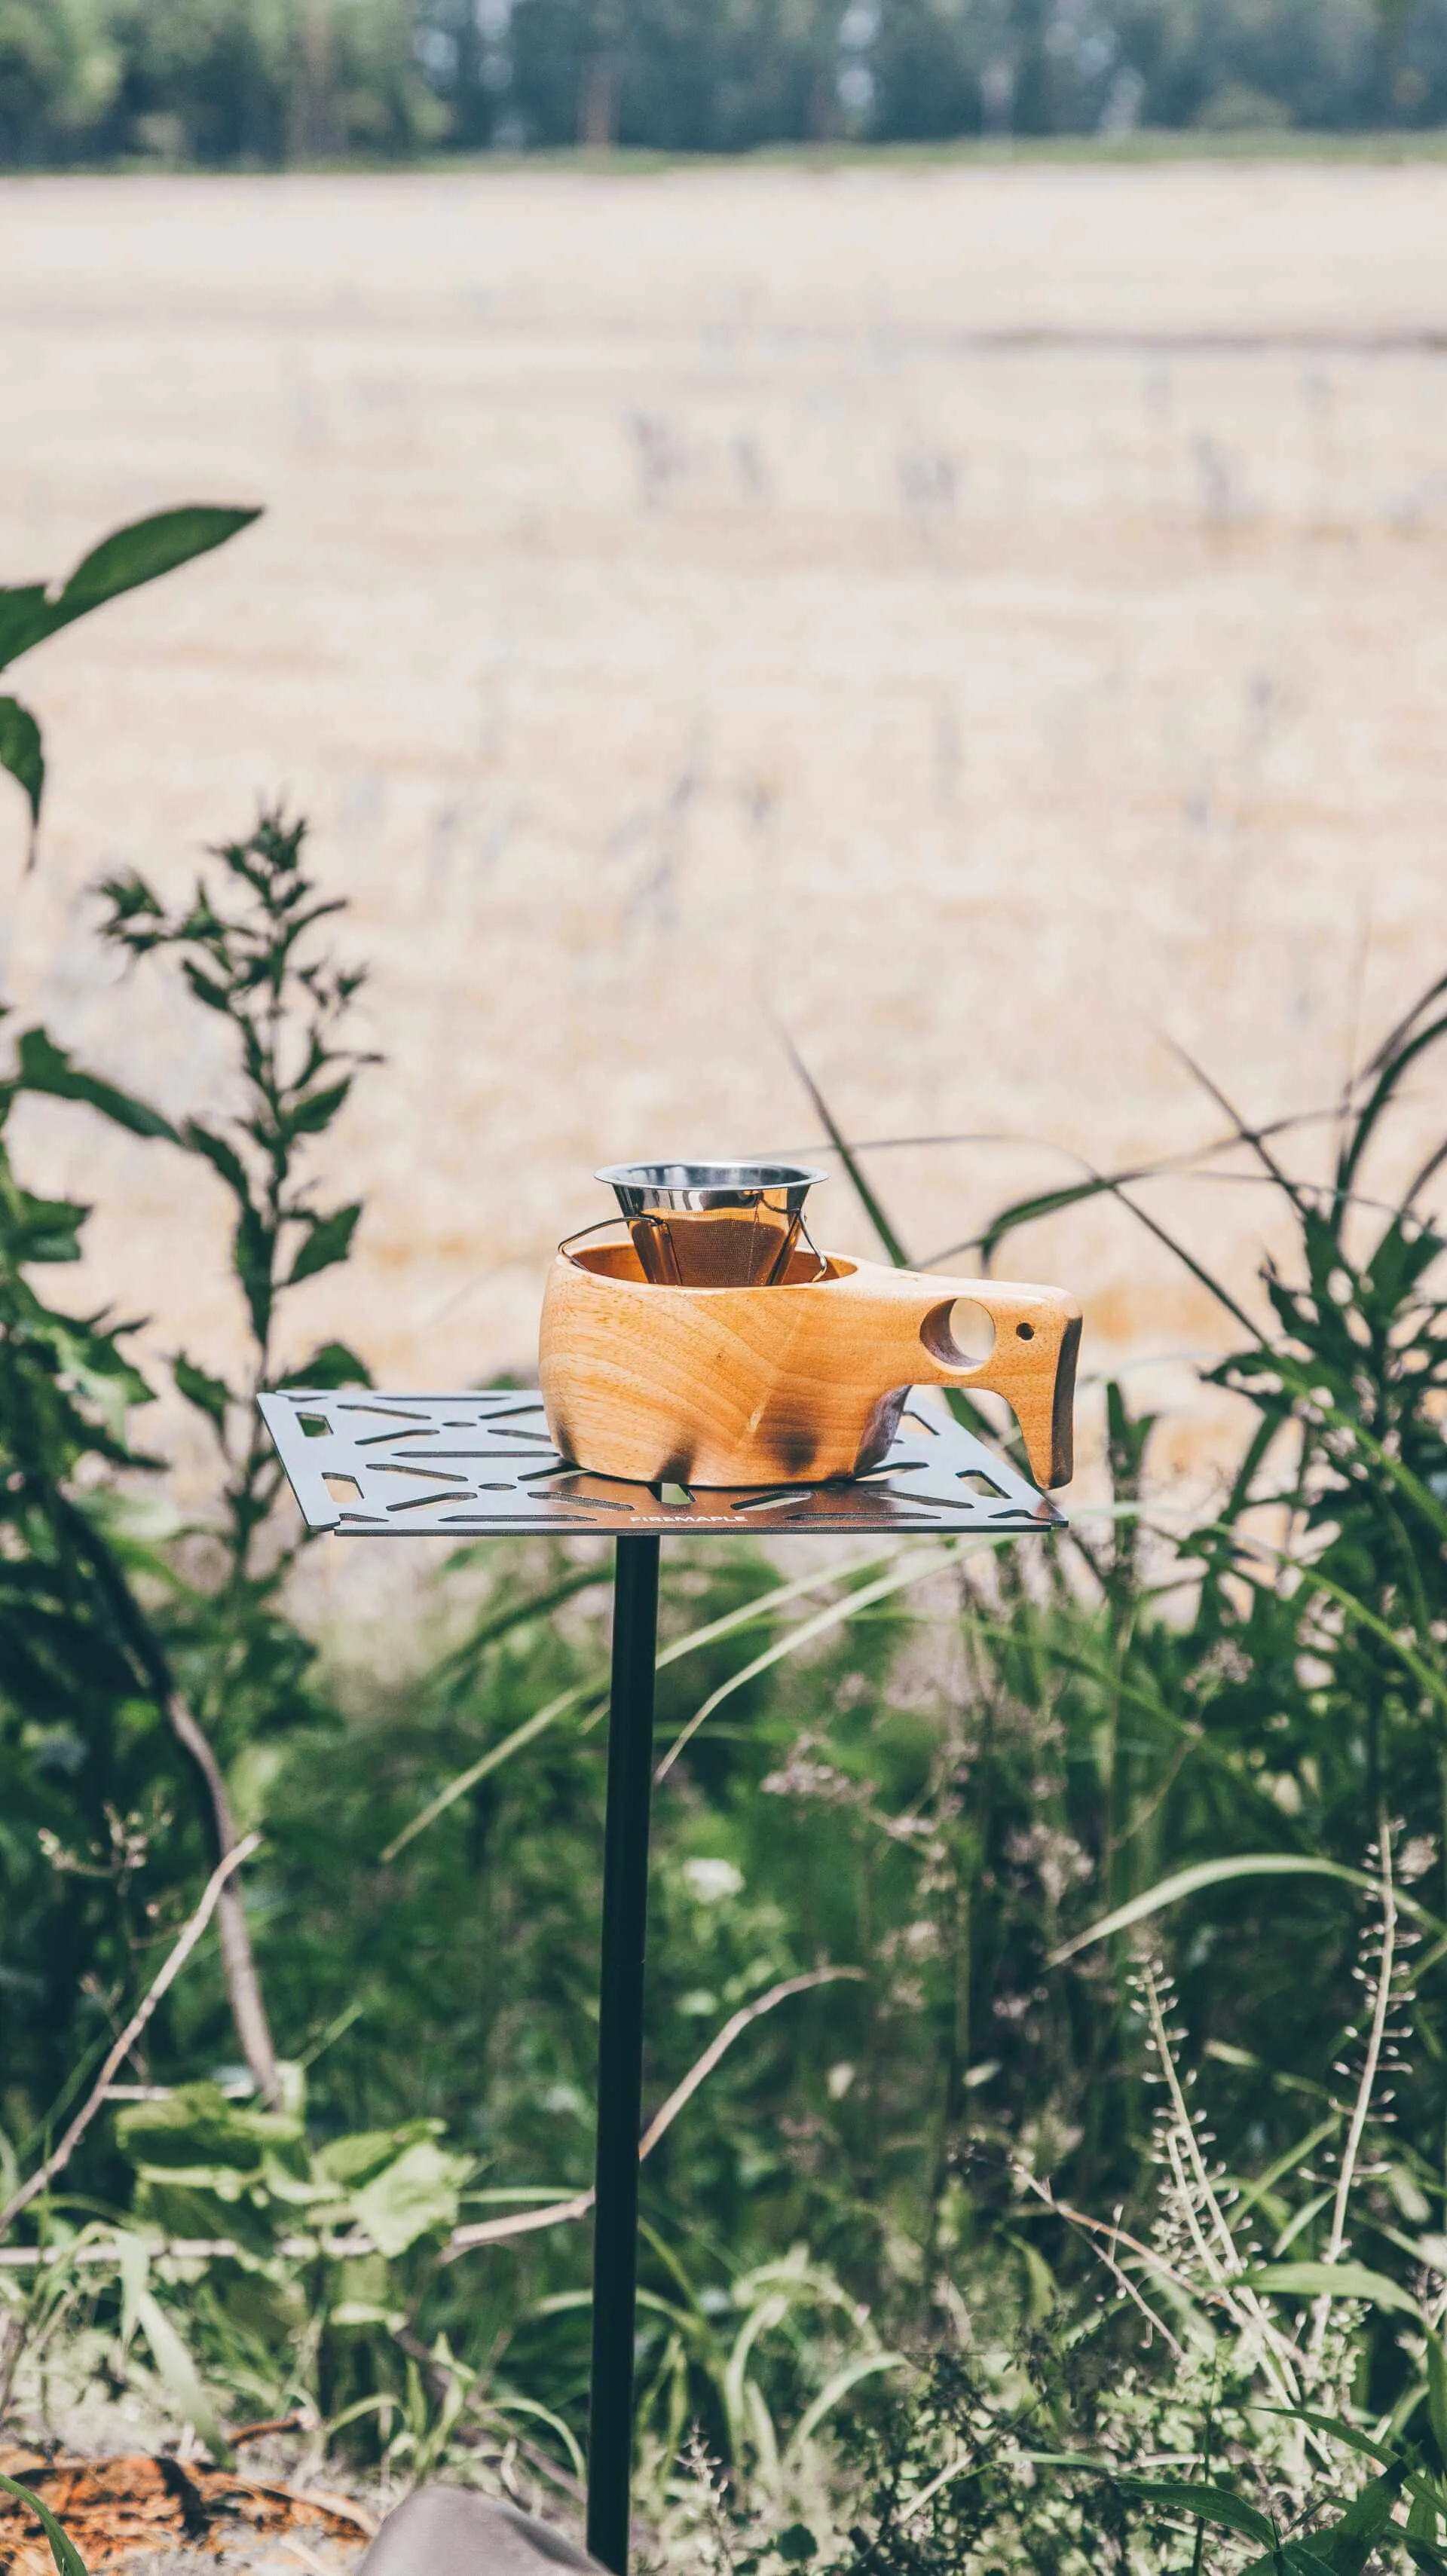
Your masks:
{"label": "blurred line of green trees beyond the pale field", "polygon": [[1432,126],[1447,0],[0,0],[0,165]]}

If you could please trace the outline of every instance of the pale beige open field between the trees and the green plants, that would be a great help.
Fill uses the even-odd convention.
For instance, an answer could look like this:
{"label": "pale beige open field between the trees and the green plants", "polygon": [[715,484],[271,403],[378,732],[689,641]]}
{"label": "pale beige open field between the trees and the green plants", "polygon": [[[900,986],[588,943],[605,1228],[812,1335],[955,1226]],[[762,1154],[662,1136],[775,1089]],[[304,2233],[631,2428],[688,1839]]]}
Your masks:
{"label": "pale beige open field between the trees and the green plants", "polygon": [[[299,1347],[525,1363],[597,1162],[816,1136],[775,1015],[855,1136],[1012,1139],[875,1159],[927,1257],[1061,1151],[1215,1133],[1169,1038],[1303,1110],[1447,963],[1447,170],[8,180],[0,350],[8,580],[268,507],[15,675],[54,786],[28,881],[0,804],[0,984],[221,1105],[85,889],[314,817],[389,1072]],[[224,1355],[206,1182],[28,1144],[95,1283]],[[1256,1193],[1174,1216],[1251,1278]],[[1120,1216],[1014,1267],[1097,1365],[1220,1340]]]}

